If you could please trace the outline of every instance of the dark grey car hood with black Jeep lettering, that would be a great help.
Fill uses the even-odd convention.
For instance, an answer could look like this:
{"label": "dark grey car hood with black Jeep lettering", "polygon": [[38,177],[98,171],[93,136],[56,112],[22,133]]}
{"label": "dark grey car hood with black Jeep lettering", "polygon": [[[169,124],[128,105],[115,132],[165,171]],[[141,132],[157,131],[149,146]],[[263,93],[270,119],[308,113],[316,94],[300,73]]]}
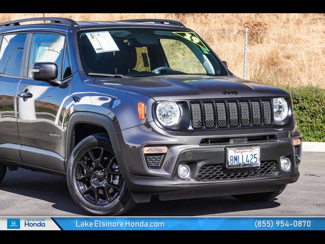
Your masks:
{"label": "dark grey car hood with black Jeep lettering", "polygon": [[285,90],[235,76],[168,75],[132,78],[96,78],[98,85],[132,90],[160,100],[288,97]]}

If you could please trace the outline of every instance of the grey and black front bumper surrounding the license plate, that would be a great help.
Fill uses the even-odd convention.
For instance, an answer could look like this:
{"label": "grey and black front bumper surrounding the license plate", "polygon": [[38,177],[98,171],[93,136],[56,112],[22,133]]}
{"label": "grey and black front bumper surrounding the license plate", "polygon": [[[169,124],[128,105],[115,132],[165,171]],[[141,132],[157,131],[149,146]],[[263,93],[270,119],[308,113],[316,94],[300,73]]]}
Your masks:
{"label": "grey and black front bumper surrounding the license plate", "polygon": [[[236,133],[232,135],[231,133]],[[256,135],[276,135],[277,140],[244,142],[241,138]],[[228,144],[202,146],[206,138],[237,138]],[[127,129],[118,133],[121,151],[116,157],[126,186],[132,192],[136,202],[148,202],[152,195],[159,195],[160,200],[174,200],[219,195],[247,194],[257,192],[280,191],[286,184],[299,178],[299,157],[295,156],[293,138],[301,137],[295,131],[237,130],[220,135],[218,131],[191,133],[171,133],[163,131],[153,122]],[[142,153],[144,146],[166,145],[169,150],[160,169],[148,168]],[[272,161],[277,164],[277,172],[248,178],[227,178],[200,180],[201,167],[220,164],[225,166],[226,148],[258,145],[261,149],[261,162]],[[301,150],[300,150],[301,151]],[[280,159],[291,161],[288,171],[282,171]],[[177,174],[180,164],[187,164],[191,169],[188,178],[182,179]]]}

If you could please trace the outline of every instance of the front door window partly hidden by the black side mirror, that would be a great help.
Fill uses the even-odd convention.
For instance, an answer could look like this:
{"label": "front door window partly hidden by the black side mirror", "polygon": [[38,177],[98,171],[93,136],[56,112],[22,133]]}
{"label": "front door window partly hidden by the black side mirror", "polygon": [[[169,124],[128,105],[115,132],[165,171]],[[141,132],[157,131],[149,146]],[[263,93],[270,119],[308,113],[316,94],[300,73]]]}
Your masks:
{"label": "front door window partly hidden by the black side mirror", "polygon": [[36,62],[52,62],[57,65],[57,79],[60,80],[62,74],[64,41],[65,38],[57,34],[34,34],[29,53],[28,77],[32,77],[32,64]]}

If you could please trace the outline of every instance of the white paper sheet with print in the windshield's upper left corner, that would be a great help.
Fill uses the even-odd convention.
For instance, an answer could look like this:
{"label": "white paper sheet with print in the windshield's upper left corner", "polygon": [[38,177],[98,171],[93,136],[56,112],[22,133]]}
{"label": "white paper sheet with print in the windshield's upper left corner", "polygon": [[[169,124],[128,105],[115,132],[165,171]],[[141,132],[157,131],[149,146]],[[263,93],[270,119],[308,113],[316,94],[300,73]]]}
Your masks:
{"label": "white paper sheet with print in the windshield's upper left corner", "polygon": [[119,51],[109,32],[86,33],[96,53]]}

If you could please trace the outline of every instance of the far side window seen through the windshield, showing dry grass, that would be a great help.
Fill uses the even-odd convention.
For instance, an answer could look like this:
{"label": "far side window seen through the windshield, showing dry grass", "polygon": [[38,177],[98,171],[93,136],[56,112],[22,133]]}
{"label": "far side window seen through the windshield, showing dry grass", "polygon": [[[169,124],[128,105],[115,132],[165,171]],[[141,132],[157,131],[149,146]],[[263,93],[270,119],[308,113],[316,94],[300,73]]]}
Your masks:
{"label": "far side window seen through the windshield, showing dry grass", "polygon": [[[207,74],[197,56],[181,41],[160,39],[170,68],[187,74]],[[177,50],[177,51],[175,51]]]}

